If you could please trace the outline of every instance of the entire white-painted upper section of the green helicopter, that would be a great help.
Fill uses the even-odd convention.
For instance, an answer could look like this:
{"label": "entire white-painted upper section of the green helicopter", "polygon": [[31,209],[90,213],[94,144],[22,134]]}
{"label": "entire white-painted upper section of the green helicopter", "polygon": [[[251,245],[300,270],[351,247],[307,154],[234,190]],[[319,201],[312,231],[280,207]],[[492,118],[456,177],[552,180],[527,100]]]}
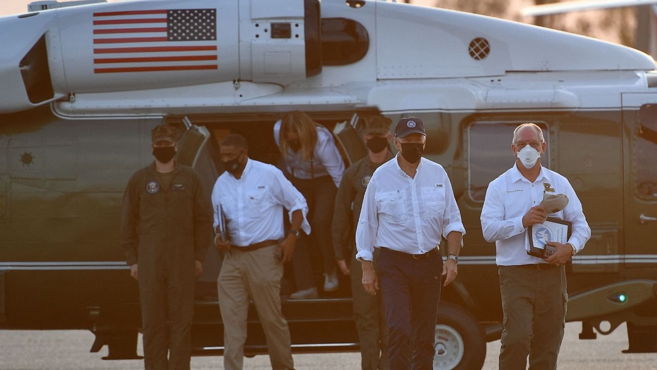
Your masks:
{"label": "entire white-painted upper section of the green helicopter", "polygon": [[[0,17],[0,112],[20,111],[55,100],[55,109],[65,115],[93,111],[156,115],[166,111],[165,107],[187,107],[190,112],[219,107],[240,110],[246,106],[257,110],[289,104],[319,106],[322,101],[348,107],[377,104],[380,99],[372,99],[376,91],[383,92],[383,86],[393,84],[463,85],[463,79],[514,75],[522,76],[524,89],[542,86],[548,91],[553,90],[551,86],[560,74],[567,74],[572,81],[583,75],[629,73],[635,76],[630,78],[634,81],[638,72],[655,68],[654,60],[641,51],[529,24],[404,3],[363,1],[360,7],[348,7],[344,0],[323,0],[321,17],[358,22],[367,30],[369,49],[358,61],[325,65],[319,74],[306,78],[302,58],[307,40],[303,33],[287,40],[258,31],[258,24],[302,24],[304,13],[299,10],[303,4],[302,0],[141,0]],[[204,41],[211,44],[211,56],[219,61],[213,62],[212,69],[142,71],[159,68],[156,63],[160,62],[148,62],[138,71],[95,70],[99,59],[95,49],[102,51],[105,45],[96,41],[106,41],[95,35],[94,17],[98,14],[206,8],[217,9],[217,37]],[[258,38],[258,34],[262,36]],[[45,45],[43,58],[49,62],[54,93],[51,99],[34,102],[28,101],[19,64],[36,47],[33,45],[39,45],[39,39],[45,40],[41,43]],[[152,45],[147,41],[116,44],[119,49],[125,46]],[[290,56],[266,59],[269,64],[265,66],[261,63],[263,55],[286,53]],[[139,55],[125,57],[134,59]],[[538,81],[538,72],[549,76]],[[574,105],[570,97],[564,99],[566,105]]]}

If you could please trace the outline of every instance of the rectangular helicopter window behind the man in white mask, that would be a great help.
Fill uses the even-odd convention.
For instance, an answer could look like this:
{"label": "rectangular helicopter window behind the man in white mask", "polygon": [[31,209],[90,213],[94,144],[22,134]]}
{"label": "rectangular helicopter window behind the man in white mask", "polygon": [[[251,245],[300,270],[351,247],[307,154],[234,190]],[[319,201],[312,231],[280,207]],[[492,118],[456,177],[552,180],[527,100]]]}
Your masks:
{"label": "rectangular helicopter window behind the man in white mask", "polygon": [[[474,201],[484,201],[488,184],[513,165],[511,140],[513,130],[522,122],[473,122],[468,126],[466,150],[468,155],[468,193]],[[549,145],[549,131],[545,122],[534,122],[543,129]],[[541,157],[541,165],[550,168],[549,151]]]}

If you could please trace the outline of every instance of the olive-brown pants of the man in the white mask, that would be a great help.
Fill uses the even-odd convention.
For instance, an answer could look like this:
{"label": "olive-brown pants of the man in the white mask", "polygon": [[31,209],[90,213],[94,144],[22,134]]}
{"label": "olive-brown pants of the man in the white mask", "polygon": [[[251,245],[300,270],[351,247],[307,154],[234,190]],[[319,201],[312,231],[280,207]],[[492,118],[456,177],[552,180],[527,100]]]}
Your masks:
{"label": "olive-brown pants of the man in the white mask", "polygon": [[[541,267],[547,265],[541,265]],[[556,369],[566,325],[566,269],[533,265],[500,266],[504,311],[499,368]]]}

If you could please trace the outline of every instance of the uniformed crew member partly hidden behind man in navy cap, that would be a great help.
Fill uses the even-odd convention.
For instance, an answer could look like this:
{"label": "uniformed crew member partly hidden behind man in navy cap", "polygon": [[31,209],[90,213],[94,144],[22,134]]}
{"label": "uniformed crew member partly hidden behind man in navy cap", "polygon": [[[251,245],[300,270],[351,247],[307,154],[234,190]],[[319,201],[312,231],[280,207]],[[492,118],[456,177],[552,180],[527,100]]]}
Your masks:
{"label": "uniformed crew member partly hidden behind man in navy cap", "polygon": [[[353,318],[361,346],[363,370],[388,369],[388,326],[383,311],[381,296],[365,292],[361,279],[363,269],[355,261],[354,243],[356,226],[361,214],[361,205],[367,184],[382,163],[394,155],[390,151],[390,119],[382,116],[365,118],[363,140],[367,145],[367,156],[353,163],[342,176],[333,212],[333,247],[338,267],[344,275],[351,277],[353,296]],[[378,262],[378,249],[374,250],[374,269]]]}

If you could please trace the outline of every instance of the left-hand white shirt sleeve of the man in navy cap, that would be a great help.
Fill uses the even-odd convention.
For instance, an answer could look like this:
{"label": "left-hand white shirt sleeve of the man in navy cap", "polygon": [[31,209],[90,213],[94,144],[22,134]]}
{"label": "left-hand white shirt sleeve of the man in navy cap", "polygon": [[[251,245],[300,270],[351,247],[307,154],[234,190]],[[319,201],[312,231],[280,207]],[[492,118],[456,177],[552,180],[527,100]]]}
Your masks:
{"label": "left-hand white shirt sleeve of the man in navy cap", "polygon": [[374,240],[378,231],[378,211],[376,209],[376,184],[372,178],[367,184],[363,207],[356,228],[356,259],[373,260]]}

